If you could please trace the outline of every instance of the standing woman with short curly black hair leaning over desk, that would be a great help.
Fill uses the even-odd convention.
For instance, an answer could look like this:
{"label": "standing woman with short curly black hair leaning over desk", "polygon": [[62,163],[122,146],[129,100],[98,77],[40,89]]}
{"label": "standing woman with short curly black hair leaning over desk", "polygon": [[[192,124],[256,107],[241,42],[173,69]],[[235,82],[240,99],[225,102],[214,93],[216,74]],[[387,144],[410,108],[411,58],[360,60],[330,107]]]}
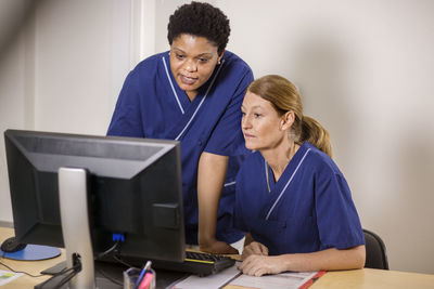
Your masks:
{"label": "standing woman with short curly black hair leaning over desk", "polygon": [[170,50],[153,55],[128,75],[108,135],[177,140],[181,143],[187,244],[235,253],[243,237],[232,225],[234,184],[247,150],[240,106],[253,74],[226,50],[229,19],[217,8],[191,2],[168,23]]}

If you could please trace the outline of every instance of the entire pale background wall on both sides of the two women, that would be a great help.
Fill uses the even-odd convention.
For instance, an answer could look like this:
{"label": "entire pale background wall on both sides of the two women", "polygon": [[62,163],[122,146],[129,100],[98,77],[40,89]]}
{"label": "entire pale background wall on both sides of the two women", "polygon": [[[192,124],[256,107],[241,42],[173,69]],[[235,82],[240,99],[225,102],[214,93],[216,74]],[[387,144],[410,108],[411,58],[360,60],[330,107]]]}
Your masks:
{"label": "entire pale background wall on both sides of the two women", "polygon": [[[0,57],[0,128],[104,134],[137,48],[142,56],[167,50],[168,16],[189,1],[139,2],[141,44],[127,21],[137,1],[43,1],[35,34]],[[280,74],[301,88],[391,268],[434,274],[434,2],[209,2],[229,16],[228,49],[256,77]],[[0,161],[0,220],[12,221],[4,153]]]}

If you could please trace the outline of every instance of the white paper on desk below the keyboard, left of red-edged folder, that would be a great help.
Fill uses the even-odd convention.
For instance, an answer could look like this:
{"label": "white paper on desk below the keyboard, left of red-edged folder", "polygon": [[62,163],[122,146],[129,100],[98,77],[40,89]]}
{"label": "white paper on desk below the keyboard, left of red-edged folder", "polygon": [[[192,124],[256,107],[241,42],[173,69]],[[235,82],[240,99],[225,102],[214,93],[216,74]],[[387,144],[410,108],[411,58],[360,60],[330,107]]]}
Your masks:
{"label": "white paper on desk below the keyboard, left of red-edged folder", "polygon": [[176,284],[174,289],[218,289],[222,286],[227,285],[231,279],[235,276],[240,275],[241,272],[237,268],[237,265],[233,265],[229,268],[226,268],[217,274],[213,274],[206,277],[197,277],[190,276],[178,284]]}

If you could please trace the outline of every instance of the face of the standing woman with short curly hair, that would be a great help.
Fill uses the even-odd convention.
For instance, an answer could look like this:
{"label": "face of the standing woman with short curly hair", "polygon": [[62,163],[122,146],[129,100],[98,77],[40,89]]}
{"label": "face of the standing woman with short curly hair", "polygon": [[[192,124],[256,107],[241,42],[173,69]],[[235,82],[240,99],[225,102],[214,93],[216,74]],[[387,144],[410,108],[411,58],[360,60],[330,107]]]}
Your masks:
{"label": "face of the standing woman with short curly hair", "polygon": [[217,47],[205,37],[180,35],[170,45],[170,69],[178,86],[192,101],[221,58]]}

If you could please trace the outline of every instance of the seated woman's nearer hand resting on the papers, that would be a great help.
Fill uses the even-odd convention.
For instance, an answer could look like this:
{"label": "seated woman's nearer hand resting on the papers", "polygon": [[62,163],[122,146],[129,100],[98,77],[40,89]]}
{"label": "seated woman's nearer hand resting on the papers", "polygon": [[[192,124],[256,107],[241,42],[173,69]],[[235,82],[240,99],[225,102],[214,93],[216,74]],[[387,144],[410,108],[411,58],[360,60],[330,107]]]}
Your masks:
{"label": "seated woman's nearer hand resting on the papers", "polygon": [[251,276],[263,276],[265,274],[279,274],[285,271],[279,255],[251,254],[238,267],[243,274]]}

